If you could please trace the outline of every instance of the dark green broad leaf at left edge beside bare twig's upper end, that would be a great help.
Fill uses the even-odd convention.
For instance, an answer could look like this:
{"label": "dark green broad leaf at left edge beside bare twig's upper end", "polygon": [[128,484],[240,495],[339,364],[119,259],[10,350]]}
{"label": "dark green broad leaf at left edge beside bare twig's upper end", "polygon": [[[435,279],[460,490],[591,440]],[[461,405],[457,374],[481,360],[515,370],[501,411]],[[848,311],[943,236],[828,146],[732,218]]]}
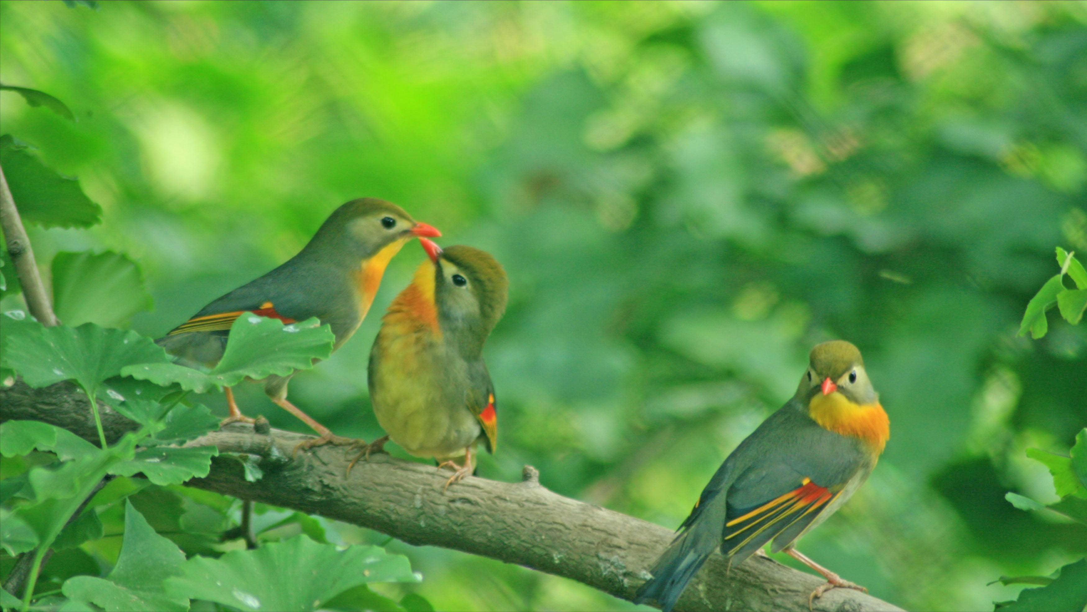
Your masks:
{"label": "dark green broad leaf at left edge beside bare twig's upper end", "polygon": [[102,221],[102,207],[87,198],[78,180],[53,172],[9,134],[0,136],[0,166],[24,223],[90,227]]}

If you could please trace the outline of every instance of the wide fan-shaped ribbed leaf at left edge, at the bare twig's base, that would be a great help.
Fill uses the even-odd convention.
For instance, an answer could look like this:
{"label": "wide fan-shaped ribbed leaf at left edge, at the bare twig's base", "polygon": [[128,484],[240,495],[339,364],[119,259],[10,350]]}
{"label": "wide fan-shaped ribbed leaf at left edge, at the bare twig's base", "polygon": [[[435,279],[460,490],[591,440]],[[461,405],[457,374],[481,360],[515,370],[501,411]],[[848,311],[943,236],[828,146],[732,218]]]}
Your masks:
{"label": "wide fan-shaped ribbed leaf at left edge, at the bare twig's base", "polygon": [[74,379],[88,395],[97,395],[103,380],[127,365],[168,361],[150,338],[93,323],[74,328],[20,325],[4,336],[5,364],[32,387]]}

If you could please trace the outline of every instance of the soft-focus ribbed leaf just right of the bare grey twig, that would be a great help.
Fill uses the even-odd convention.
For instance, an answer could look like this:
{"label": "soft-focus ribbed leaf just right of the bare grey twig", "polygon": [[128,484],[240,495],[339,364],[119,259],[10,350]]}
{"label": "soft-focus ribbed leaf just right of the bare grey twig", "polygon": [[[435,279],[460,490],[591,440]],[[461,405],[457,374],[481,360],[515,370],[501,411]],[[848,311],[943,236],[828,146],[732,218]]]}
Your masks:
{"label": "soft-focus ribbed leaf just right of the bare grey twig", "polygon": [[124,327],[134,314],[154,304],[139,266],[120,253],[62,251],[53,258],[52,272],[53,310],[70,327]]}

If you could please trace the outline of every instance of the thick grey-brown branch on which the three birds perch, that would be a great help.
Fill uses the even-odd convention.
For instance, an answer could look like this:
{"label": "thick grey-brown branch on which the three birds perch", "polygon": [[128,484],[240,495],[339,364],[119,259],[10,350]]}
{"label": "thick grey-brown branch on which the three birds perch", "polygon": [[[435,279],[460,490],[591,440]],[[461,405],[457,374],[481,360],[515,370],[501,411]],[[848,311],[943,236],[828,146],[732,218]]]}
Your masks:
{"label": "thick grey-brown branch on which the three birds perch", "polygon": [[[97,439],[87,399],[71,384],[32,389],[22,380],[0,389],[0,422],[35,419]],[[107,437],[136,424],[103,405]],[[262,458],[264,477],[247,483],[238,461],[218,457],[207,478],[189,486],[245,500],[321,514],[376,529],[412,545],[440,546],[572,578],[630,600],[646,570],[672,540],[670,529],[547,490],[526,466],[521,483],[468,477],[442,491],[448,475],[433,465],[378,454],[345,476],[350,455],[321,447],[291,459],[307,436],[245,424],[209,434],[188,446]],[[808,610],[822,579],[752,557],[728,569],[714,554],[687,587],[676,610]],[[900,610],[869,595],[833,589],[814,610]]]}

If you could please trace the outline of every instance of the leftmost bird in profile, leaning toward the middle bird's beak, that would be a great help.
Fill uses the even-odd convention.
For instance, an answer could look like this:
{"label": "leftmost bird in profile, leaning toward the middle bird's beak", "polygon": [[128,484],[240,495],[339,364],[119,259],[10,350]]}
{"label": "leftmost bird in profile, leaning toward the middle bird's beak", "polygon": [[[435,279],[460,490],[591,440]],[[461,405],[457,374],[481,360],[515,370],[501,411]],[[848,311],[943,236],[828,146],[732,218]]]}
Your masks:
{"label": "leftmost bird in profile, leaning toward the middle bird's beak", "polygon": [[[214,366],[223,357],[230,326],[243,312],[293,323],[317,317],[332,327],[338,349],[359,328],[374,301],[385,267],[411,238],[441,236],[430,225],[416,222],[400,207],[375,198],[351,200],[321,225],[302,250],[279,267],[211,302],[191,319],[155,340],[186,365]],[[273,402],[301,419],[320,437],[299,445],[357,444],[334,436],[327,427],[287,401],[290,376],[268,376],[264,391]],[[226,388],[230,415],[252,423]]]}

